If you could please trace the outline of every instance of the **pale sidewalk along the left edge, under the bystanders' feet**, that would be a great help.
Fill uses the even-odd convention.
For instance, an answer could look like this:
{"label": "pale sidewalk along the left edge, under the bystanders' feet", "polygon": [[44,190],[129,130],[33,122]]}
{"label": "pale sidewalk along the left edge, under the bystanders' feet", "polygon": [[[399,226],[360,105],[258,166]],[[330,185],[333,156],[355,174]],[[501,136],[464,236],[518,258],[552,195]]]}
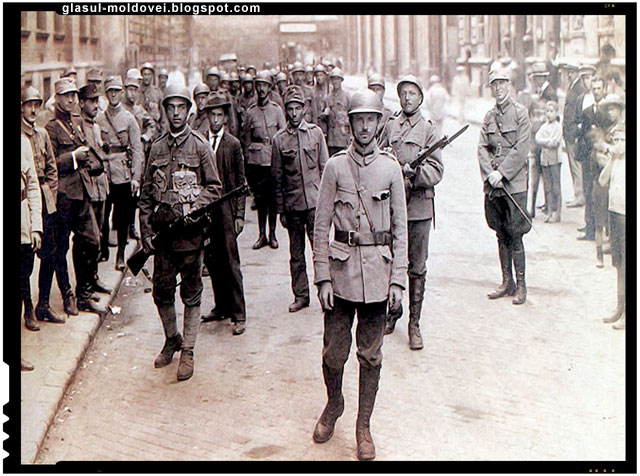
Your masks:
{"label": "pale sidewalk along the left edge, under the bystanders' feet", "polygon": [[[136,248],[129,240],[125,256]],[[21,454],[23,464],[33,463],[49,426],[58,411],[65,390],[71,382],[78,365],[87,351],[93,337],[100,328],[111,300],[118,293],[124,272],[115,269],[116,249],[110,248],[108,262],[100,263],[100,279],[114,289],[113,293],[98,294],[101,297],[98,306],[104,312],[101,315],[80,312],[78,316],[68,316],[65,324],[38,322],[40,330],[32,332],[24,327],[21,332],[22,356],[35,366],[31,372],[21,372]],[[75,288],[75,275],[71,251],[68,253],[71,285]],[[31,295],[34,306],[38,296],[38,273],[40,260],[35,260],[31,274]],[[51,307],[63,313],[62,299],[57,283],[51,289]]]}

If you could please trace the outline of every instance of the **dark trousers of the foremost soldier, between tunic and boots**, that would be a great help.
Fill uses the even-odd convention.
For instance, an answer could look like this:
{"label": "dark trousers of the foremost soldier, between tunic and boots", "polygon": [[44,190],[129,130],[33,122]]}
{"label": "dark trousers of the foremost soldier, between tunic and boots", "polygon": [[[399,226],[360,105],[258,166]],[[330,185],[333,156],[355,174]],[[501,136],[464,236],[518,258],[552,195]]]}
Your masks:
{"label": "dark trousers of the foremost soldier, between tunic and boots", "polygon": [[386,310],[386,300],[365,304],[336,296],[333,310],[324,313],[322,363],[332,369],[341,369],[347,362],[351,350],[351,328],[357,311],[358,362],[367,368],[381,367]]}

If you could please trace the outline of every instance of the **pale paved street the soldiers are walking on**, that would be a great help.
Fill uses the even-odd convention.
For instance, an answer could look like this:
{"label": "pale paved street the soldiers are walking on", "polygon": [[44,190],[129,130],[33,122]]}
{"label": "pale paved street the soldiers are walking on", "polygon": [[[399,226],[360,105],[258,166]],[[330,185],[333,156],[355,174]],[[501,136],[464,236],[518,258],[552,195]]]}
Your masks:
{"label": "pale paved street the soldiers are walking on", "polygon": [[[457,127],[445,122],[447,133]],[[425,348],[409,350],[406,314],[385,337],[372,418],[376,459],[623,460],[625,331],[602,323],[615,305],[615,269],[609,257],[604,269],[595,267],[594,244],[575,239],[583,209],[565,208],[562,223],[536,219],[525,237],[527,303],[489,301],[500,270],[484,219],[478,133],[473,125],[443,152]],[[567,175],[565,166],[565,182]],[[153,368],[162,327],[150,283],[128,273],[113,303],[122,312],[108,314],[97,330],[37,463],[356,459],[357,359],[352,353],[345,369],[345,412],[335,435],[313,443],[326,401],[322,313],[313,287],[309,308],[287,312],[286,232],[278,226],[279,249],[252,250],[256,218],[247,210],[239,238],[246,333],[233,336],[229,321],[202,324],[194,376],[177,382],[177,356]],[[309,250],[307,262],[312,279]],[[206,313],[213,298],[204,283]]]}

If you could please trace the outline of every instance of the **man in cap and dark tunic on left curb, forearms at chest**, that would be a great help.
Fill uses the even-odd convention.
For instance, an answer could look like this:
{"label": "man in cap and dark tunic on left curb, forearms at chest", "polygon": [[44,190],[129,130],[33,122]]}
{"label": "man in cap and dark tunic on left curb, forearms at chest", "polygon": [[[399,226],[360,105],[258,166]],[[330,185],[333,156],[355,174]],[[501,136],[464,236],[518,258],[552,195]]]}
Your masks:
{"label": "man in cap and dark tunic on left curb, forearms at chest", "polygon": [[[103,170],[99,158],[89,149],[82,128],[82,119],[73,111],[78,108],[75,81],[61,78],[55,83],[56,117],[46,126],[58,166],[58,217],[55,230],[55,269],[58,287],[64,297],[67,314],[77,315],[78,309],[93,312],[92,281],[93,260],[97,257],[100,230],[91,204],[97,196],[92,176]],[[69,236],[73,232],[73,268],[76,275],[76,295],[69,284],[67,251]],[[41,279],[40,296],[48,307],[53,268],[47,268],[47,276]],[[42,276],[41,276],[42,278]],[[38,304],[40,307],[40,303]],[[46,309],[40,307],[40,309]],[[45,312],[46,315],[46,312]],[[40,315],[45,317],[45,315]],[[36,309],[38,317],[38,309]]]}

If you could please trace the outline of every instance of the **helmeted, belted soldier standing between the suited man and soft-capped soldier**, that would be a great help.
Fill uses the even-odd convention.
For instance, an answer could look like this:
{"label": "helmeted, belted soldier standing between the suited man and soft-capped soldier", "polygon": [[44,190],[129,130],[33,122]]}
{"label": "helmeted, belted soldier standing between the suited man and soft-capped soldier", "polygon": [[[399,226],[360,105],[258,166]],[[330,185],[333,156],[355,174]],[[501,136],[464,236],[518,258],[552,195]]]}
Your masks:
{"label": "helmeted, belted soldier standing between the suited man and soft-capped soldier", "polygon": [[[244,124],[244,147],[247,161],[247,179],[253,191],[258,209],[258,240],[253,249],[267,245],[278,247],[276,239],[277,205],[271,178],[272,139],[276,132],[286,125],[282,109],[269,100],[271,76],[269,71],[258,72],[255,79],[258,101],[247,110]],[[269,240],[266,236],[267,217],[269,219]]]}

